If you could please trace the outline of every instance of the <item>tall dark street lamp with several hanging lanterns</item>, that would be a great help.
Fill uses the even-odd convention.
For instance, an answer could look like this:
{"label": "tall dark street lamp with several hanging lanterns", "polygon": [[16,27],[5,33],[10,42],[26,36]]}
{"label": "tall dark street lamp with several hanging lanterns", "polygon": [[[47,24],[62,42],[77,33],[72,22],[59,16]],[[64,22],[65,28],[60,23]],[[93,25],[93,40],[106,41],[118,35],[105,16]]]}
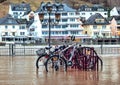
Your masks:
{"label": "tall dark street lamp with several hanging lanterns", "polygon": [[[55,15],[55,21],[57,23],[54,23],[54,24],[58,24],[58,22],[60,21],[60,13],[58,13],[58,9],[59,9],[59,6],[60,5],[52,5],[50,2],[48,2],[47,4],[45,4],[43,6],[43,10],[41,10],[40,13],[38,13],[39,15],[39,19],[41,22],[44,22],[44,11],[47,11],[48,15],[49,15],[49,18],[48,18],[48,27],[49,27],[49,39],[48,39],[48,44],[49,44],[49,47],[51,47],[51,23],[52,23],[52,20],[51,20],[51,14],[54,13]],[[42,12],[43,11],[43,12]],[[50,49],[49,49],[49,53],[50,53]]]}

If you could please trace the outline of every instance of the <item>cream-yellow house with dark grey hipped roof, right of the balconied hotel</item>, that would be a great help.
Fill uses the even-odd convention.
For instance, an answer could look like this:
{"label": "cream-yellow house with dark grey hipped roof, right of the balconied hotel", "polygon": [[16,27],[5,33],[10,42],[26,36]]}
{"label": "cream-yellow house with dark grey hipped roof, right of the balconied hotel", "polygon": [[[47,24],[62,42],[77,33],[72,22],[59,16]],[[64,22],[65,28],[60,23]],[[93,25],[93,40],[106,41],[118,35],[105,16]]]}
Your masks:
{"label": "cream-yellow house with dark grey hipped roof, right of the balconied hotel", "polygon": [[110,23],[101,14],[96,13],[85,21],[83,32],[91,38],[110,38]]}

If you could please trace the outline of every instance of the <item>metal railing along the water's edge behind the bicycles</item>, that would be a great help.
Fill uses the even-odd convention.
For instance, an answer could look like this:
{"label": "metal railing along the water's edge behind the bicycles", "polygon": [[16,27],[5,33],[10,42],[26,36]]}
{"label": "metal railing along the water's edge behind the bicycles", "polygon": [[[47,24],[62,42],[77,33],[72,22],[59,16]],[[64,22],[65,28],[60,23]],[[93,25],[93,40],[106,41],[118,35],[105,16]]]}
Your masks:
{"label": "metal railing along the water's edge behind the bicycles", "polygon": [[[36,56],[36,50],[47,45],[6,44],[0,46],[0,56]],[[120,45],[82,45],[94,47],[98,55],[120,55]]]}

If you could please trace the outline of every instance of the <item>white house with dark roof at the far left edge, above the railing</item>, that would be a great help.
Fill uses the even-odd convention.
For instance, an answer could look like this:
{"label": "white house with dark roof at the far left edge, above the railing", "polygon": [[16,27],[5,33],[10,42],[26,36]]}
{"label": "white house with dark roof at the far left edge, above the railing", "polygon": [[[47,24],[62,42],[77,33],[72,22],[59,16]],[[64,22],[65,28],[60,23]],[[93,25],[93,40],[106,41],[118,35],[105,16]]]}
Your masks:
{"label": "white house with dark roof at the far left edge, above the railing", "polygon": [[27,36],[26,20],[16,20],[9,14],[0,19],[0,42],[23,43]]}

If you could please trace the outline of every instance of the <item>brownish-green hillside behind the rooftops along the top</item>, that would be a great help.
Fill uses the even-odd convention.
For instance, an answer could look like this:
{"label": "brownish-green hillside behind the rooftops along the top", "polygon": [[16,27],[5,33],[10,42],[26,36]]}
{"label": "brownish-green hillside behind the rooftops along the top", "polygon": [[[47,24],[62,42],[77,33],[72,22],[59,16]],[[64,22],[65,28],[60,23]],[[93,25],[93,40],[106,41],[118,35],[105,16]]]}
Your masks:
{"label": "brownish-green hillside behind the rooftops along the top", "polygon": [[[1,0],[0,0],[1,1]],[[0,3],[0,18],[4,17],[9,10],[10,3],[21,3],[26,2],[30,3],[31,8],[35,11],[42,1],[44,2],[52,2],[52,1],[59,1],[63,3],[67,3],[74,8],[78,8],[82,4],[102,4],[108,7],[120,6],[120,0],[2,0],[4,2]]]}

